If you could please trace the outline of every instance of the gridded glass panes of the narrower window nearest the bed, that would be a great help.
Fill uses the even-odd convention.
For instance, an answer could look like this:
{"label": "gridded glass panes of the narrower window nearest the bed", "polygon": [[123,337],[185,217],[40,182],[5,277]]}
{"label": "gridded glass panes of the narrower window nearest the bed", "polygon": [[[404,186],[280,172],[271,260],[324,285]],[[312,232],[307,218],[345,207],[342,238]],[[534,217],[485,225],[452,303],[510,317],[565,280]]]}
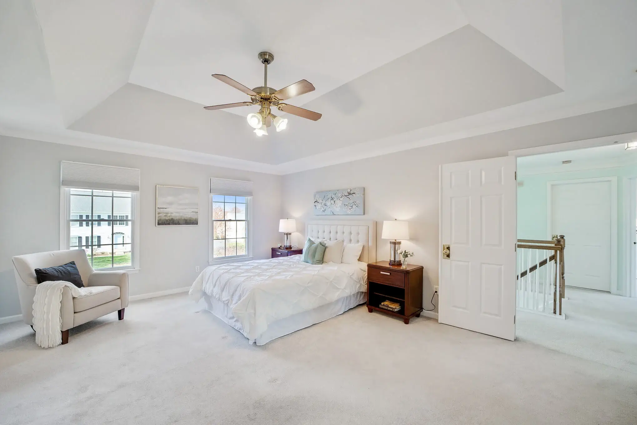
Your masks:
{"label": "gridded glass panes of the narrower window nearest the bed", "polygon": [[212,258],[248,256],[250,198],[211,195]]}

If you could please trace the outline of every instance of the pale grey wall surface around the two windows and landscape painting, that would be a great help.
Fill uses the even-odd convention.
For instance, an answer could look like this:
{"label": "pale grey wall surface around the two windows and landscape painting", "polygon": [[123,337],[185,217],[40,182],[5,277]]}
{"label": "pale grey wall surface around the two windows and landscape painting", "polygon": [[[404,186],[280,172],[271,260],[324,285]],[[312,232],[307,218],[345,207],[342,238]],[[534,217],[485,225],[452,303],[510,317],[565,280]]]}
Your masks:
{"label": "pale grey wall surface around the two windows and landscape painting", "polygon": [[[208,266],[209,178],[254,182],[253,254],[282,241],[281,177],[0,136],[0,317],[20,314],[11,257],[59,249],[60,161],[141,169],[140,272],[130,294],[186,287]],[[199,226],[155,227],[155,185],[199,187]]]}

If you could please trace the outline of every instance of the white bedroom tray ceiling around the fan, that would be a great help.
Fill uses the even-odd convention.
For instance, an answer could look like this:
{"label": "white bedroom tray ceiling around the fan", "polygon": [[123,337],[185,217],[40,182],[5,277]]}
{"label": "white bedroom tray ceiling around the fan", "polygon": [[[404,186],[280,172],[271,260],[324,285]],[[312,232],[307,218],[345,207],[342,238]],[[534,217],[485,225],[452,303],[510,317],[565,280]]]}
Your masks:
{"label": "white bedroom tray ceiling around the fan", "polygon": [[[0,133],[299,168],[637,103],[635,20],[634,0],[4,0]],[[321,120],[256,138],[253,108],[201,110],[247,99],[212,73],[262,85],[261,50]]]}

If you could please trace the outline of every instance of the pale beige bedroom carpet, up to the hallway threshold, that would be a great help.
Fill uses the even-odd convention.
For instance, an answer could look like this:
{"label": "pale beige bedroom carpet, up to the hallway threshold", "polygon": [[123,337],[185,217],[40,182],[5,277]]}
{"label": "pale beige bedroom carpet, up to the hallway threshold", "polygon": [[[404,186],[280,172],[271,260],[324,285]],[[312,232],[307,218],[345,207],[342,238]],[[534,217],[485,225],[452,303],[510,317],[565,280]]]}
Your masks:
{"label": "pale beige bedroom carpet, up to the hallway threshold", "polygon": [[637,374],[358,307],[263,347],[185,295],[36,347],[0,326],[2,424],[631,424]]}

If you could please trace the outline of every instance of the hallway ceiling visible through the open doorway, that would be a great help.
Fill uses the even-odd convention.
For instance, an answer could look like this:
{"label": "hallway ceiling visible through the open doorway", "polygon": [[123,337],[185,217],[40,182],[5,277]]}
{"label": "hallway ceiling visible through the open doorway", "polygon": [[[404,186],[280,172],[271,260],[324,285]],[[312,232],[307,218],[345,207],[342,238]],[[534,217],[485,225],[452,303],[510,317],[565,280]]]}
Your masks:
{"label": "hallway ceiling visible through the open doorway", "polygon": [[[562,164],[562,161],[571,161],[571,163]],[[637,165],[637,149],[626,150],[626,143],[529,155],[519,157],[517,160],[520,176],[625,165]]]}

